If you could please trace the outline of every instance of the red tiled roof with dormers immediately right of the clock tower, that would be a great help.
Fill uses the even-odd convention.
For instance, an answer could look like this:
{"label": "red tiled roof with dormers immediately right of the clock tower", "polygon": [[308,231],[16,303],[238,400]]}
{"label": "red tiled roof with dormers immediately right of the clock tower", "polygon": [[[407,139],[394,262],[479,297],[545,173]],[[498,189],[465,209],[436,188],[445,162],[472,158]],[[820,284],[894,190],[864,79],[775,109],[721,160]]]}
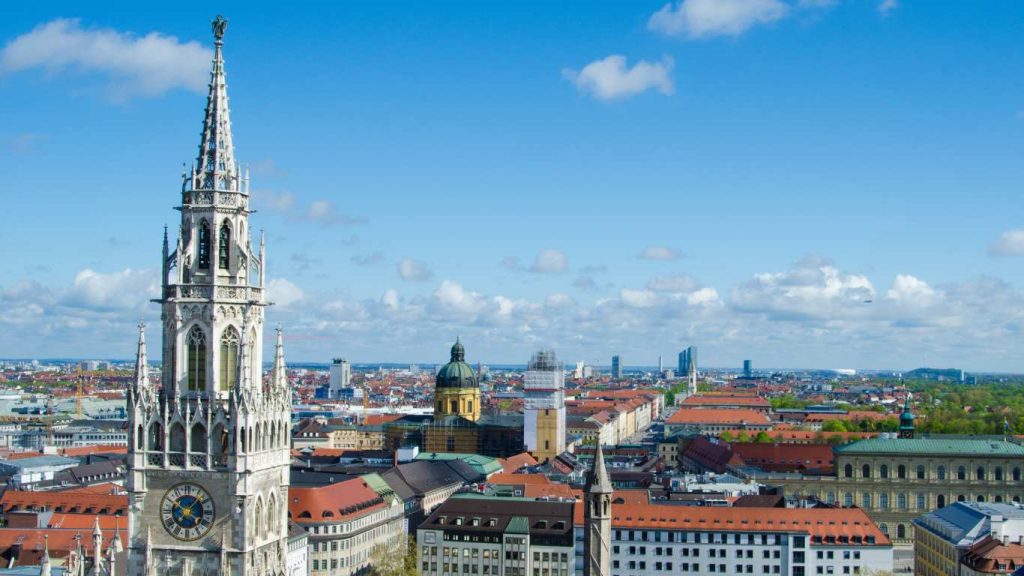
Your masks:
{"label": "red tiled roof with dormers immediately right of the clock tower", "polygon": [[288,491],[288,516],[298,524],[338,522],[383,506],[384,499],[361,478],[316,488],[292,487]]}

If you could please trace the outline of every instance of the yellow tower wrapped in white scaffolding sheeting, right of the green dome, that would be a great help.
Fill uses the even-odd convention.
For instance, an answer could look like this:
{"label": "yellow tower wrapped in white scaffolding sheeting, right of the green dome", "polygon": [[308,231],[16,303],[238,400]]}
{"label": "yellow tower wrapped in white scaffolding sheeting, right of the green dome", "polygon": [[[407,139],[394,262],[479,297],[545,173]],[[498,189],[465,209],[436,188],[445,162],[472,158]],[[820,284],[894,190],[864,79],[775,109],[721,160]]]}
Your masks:
{"label": "yellow tower wrapped in white scaffolding sheeting, right of the green dome", "polygon": [[565,374],[552,351],[529,359],[523,378],[523,440],[538,460],[565,451]]}

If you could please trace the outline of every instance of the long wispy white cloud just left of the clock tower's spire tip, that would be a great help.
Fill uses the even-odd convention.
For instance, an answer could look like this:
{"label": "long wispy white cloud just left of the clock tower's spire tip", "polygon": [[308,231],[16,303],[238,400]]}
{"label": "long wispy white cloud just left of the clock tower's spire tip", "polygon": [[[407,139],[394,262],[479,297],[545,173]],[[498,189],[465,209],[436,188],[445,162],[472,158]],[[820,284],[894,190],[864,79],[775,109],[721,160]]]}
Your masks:
{"label": "long wispy white cloud just left of the clock tower's spire tip", "polygon": [[98,73],[115,99],[157,96],[175,88],[206,90],[213,52],[159,32],[143,37],[111,29],[82,28],[54,19],[14,38],[0,52],[0,73],[43,69]]}

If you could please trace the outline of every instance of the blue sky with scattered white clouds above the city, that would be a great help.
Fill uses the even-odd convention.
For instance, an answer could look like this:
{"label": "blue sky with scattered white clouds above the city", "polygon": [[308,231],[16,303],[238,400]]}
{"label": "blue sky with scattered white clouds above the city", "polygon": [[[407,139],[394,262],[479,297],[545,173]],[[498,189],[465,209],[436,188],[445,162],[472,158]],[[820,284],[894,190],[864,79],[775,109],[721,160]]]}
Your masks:
{"label": "blue sky with scattered white clouds above the city", "polygon": [[1024,4],[339,4],[8,8],[0,357],[157,318],[219,10],[290,359],[1024,371]]}

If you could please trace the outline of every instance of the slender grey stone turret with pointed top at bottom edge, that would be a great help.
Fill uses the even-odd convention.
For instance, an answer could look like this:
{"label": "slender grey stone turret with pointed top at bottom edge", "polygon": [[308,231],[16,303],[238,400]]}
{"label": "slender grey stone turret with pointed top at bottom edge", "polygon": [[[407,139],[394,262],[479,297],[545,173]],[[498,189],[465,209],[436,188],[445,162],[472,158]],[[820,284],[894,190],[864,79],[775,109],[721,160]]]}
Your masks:
{"label": "slender grey stone turret with pointed top at bottom edge", "polygon": [[587,475],[584,497],[584,576],[611,576],[611,481],[604,466],[604,450],[597,445],[594,466]]}

